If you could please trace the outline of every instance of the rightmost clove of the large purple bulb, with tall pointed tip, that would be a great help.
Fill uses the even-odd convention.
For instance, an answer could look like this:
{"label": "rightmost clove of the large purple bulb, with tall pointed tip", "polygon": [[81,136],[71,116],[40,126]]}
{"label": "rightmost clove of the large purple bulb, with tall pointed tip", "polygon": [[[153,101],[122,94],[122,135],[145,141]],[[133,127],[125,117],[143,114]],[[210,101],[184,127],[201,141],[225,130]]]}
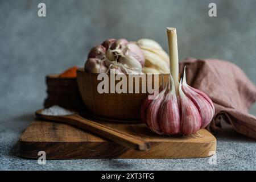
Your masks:
{"label": "rightmost clove of the large purple bulb, with tall pointed tip", "polygon": [[201,92],[200,90],[192,88],[187,84],[185,68],[183,73],[182,90],[199,110],[199,114],[202,119],[201,128],[209,125],[214,115],[213,102],[210,100],[207,94]]}

